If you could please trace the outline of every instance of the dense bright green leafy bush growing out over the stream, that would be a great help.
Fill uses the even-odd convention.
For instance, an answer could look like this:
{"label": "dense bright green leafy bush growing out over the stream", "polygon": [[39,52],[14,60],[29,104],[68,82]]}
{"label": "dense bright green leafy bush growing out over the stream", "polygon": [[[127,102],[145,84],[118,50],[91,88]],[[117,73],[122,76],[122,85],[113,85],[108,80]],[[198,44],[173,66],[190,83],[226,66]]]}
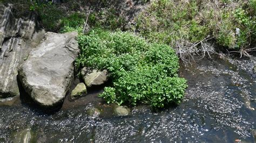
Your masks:
{"label": "dense bright green leafy bush growing out over the stream", "polygon": [[100,95],[108,103],[163,108],[183,98],[186,80],[178,77],[178,57],[169,46],[149,44],[129,32],[99,29],[80,35],[78,43],[76,66],[109,71],[113,85]]}

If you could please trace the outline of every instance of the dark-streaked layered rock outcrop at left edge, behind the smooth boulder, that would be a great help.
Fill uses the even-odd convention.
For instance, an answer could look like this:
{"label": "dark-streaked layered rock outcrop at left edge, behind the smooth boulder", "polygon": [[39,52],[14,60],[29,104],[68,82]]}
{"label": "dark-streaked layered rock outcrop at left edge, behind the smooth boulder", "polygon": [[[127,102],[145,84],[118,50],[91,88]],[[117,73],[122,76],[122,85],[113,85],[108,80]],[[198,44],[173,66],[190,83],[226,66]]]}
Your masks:
{"label": "dark-streaked layered rock outcrop at left edge, behind the smooth boulder", "polygon": [[44,37],[37,16],[15,18],[11,5],[0,4],[0,98],[19,95],[17,67]]}

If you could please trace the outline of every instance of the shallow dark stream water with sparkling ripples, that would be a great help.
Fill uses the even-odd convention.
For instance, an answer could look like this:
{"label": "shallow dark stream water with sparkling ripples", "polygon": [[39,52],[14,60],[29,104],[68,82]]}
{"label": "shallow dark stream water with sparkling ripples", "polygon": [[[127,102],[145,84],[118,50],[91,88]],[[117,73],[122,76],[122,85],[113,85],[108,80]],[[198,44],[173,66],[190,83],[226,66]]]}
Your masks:
{"label": "shallow dark stream water with sparkling ripples", "polygon": [[[69,102],[47,115],[16,99],[0,105],[0,141],[12,141],[29,128],[32,141],[193,141],[255,142],[256,81],[248,59],[204,59],[181,66],[188,88],[181,104],[159,112],[149,106],[113,115],[98,92]],[[88,115],[96,107],[100,115]]]}

